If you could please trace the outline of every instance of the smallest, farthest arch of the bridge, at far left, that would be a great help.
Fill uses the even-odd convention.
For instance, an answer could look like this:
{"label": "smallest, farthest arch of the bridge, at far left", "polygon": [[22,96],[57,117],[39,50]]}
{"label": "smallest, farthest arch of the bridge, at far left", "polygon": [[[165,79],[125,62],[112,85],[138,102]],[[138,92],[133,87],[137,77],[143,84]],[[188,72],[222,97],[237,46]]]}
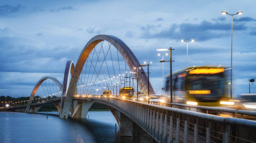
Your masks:
{"label": "smallest, farthest arch of the bridge, at far left", "polygon": [[33,88],[32,90],[32,93],[30,95],[30,98],[29,98],[29,101],[28,101],[28,104],[26,106],[26,110],[25,110],[25,113],[28,113],[29,111],[29,108],[30,108],[30,105],[32,103],[32,100],[36,94],[36,91],[38,89],[38,87],[42,84],[42,82],[44,82],[46,79],[51,79],[52,81],[54,81],[58,86],[59,88],[61,88],[62,84],[59,82],[58,79],[54,78],[54,77],[50,77],[50,76],[44,76],[42,77],[37,83],[36,83],[36,86]]}

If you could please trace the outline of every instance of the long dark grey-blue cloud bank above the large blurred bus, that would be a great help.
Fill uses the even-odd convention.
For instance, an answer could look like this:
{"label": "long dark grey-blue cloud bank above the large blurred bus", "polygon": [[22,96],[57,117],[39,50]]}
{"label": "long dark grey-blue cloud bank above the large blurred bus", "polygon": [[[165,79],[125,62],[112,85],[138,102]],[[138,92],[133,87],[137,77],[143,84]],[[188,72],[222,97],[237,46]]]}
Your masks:
{"label": "long dark grey-blue cloud bank above the large blurred bus", "polygon": [[[149,38],[168,38],[168,39],[196,39],[197,41],[205,41],[209,39],[224,37],[228,35],[230,23],[202,21],[200,23],[181,23],[172,24],[169,28],[165,28],[160,32],[156,30],[157,26],[147,25],[141,27],[141,37]],[[233,30],[246,30],[247,27],[242,24],[233,26]]]}

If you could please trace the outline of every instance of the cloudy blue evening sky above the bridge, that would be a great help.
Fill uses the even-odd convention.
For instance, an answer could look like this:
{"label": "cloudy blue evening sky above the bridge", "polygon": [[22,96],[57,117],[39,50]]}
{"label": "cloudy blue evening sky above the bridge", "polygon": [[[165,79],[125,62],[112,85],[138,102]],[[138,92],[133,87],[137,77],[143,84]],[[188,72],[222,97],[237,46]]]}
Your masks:
{"label": "cloudy blue evening sky above the bridge", "polygon": [[233,17],[233,95],[248,93],[248,79],[256,78],[253,5],[254,0],[1,0],[0,95],[30,96],[43,76],[62,82],[67,60],[76,63],[84,45],[100,34],[123,40],[139,62],[152,62],[150,81],[159,94],[157,48],[175,49],[173,71],[186,67],[181,39],[195,39],[189,66],[230,66],[231,16],[221,11],[243,11]]}

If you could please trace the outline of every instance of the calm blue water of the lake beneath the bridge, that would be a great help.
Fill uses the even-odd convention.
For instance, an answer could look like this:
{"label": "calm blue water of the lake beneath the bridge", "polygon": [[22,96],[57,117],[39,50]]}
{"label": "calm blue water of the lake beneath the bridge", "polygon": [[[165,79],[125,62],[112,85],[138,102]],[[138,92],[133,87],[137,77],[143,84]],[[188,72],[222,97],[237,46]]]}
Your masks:
{"label": "calm blue water of the lake beneath the bridge", "polygon": [[54,115],[46,119],[44,114],[0,112],[0,143],[120,142],[118,123],[110,111],[88,115],[89,119],[60,119]]}

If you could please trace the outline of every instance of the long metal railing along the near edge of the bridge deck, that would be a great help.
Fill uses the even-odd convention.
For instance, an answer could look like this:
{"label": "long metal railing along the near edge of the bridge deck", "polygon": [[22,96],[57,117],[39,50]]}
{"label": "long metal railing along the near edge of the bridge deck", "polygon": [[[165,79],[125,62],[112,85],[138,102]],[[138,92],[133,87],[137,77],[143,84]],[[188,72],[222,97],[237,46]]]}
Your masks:
{"label": "long metal railing along the near edge of the bridge deck", "polygon": [[79,100],[112,103],[159,143],[255,143],[256,121],[215,116],[115,97]]}

